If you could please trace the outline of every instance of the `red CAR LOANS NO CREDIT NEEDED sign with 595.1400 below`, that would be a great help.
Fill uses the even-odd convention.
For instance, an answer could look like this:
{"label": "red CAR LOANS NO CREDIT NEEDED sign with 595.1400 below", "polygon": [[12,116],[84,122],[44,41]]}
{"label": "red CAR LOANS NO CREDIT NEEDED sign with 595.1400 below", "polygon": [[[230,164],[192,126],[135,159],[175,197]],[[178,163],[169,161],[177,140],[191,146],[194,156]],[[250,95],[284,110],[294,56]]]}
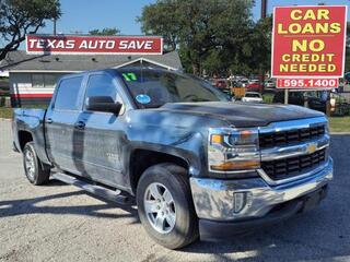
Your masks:
{"label": "red CAR LOANS NO CREDIT NEEDED sign with 595.1400 below", "polygon": [[335,87],[342,78],[346,5],[277,7],[271,75],[278,87]]}

